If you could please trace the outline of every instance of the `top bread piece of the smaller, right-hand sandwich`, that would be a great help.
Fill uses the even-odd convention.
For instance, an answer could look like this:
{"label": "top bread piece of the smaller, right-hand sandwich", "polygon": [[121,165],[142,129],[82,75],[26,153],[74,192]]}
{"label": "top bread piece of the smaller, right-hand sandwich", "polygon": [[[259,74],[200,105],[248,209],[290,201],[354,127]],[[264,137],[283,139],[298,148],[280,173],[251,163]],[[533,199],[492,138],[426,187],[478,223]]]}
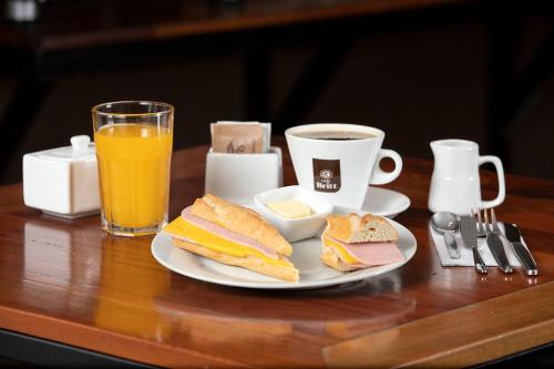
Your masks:
{"label": "top bread piece of the smaller, right-hand sandwich", "polygon": [[325,233],[348,244],[398,240],[397,229],[382,216],[372,214],[329,214]]}

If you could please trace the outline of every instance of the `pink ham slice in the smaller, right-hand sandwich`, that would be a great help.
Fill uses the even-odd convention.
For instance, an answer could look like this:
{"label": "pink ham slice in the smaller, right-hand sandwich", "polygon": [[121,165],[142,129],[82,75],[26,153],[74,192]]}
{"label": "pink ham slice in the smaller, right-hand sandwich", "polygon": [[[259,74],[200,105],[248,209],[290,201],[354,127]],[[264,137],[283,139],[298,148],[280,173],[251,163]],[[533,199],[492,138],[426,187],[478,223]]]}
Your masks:
{"label": "pink ham slice in the smaller, right-hand sandwich", "polygon": [[404,260],[404,256],[393,242],[348,244],[331,237],[329,238],[342,246],[350,256],[359,260],[362,265],[386,265]]}

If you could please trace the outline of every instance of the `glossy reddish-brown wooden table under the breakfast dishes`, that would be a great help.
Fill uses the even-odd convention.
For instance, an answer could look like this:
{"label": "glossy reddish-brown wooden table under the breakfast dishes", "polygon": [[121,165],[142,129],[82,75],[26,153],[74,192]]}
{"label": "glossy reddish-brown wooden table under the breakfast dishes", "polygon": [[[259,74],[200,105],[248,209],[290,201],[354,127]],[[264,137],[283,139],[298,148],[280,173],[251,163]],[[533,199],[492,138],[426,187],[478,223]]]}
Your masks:
{"label": "glossy reddish-brown wooden table under the breakfast dishes", "polygon": [[[285,151],[288,152],[288,151]],[[175,153],[171,215],[203,194],[206,147]],[[152,237],[104,235],[98,216],[62,221],[0,188],[0,328],[172,367],[471,366],[554,338],[554,182],[507,175],[497,216],[517,223],[541,275],[440,265],[428,234],[431,163],[404,160],[387,187],[418,239],[394,271],[319,290],[227,288],[174,274]],[[285,180],[294,172],[285,155]],[[495,178],[483,173],[484,195]],[[0,345],[1,346],[1,345]]]}

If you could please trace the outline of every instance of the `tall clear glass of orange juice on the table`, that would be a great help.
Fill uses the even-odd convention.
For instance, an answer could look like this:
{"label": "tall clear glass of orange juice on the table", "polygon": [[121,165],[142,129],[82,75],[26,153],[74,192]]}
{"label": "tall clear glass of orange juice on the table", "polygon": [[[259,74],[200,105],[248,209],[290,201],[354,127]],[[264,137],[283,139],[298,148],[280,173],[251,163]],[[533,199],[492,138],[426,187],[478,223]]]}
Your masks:
{"label": "tall clear glass of orange juice on the table", "polygon": [[148,235],[167,224],[174,111],[152,101],[92,107],[102,229],[107,233]]}

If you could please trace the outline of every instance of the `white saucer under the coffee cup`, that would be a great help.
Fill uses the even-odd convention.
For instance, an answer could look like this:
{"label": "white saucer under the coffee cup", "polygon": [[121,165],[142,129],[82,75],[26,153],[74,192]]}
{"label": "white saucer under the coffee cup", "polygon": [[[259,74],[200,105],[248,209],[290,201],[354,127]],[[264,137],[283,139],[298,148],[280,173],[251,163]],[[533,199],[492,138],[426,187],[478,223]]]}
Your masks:
{"label": "white saucer under the coffee cup", "polygon": [[392,189],[369,186],[368,192],[366,193],[366,199],[363,201],[363,205],[360,209],[335,206],[334,212],[339,214],[371,213],[393,218],[410,207],[410,197],[404,194]]}

